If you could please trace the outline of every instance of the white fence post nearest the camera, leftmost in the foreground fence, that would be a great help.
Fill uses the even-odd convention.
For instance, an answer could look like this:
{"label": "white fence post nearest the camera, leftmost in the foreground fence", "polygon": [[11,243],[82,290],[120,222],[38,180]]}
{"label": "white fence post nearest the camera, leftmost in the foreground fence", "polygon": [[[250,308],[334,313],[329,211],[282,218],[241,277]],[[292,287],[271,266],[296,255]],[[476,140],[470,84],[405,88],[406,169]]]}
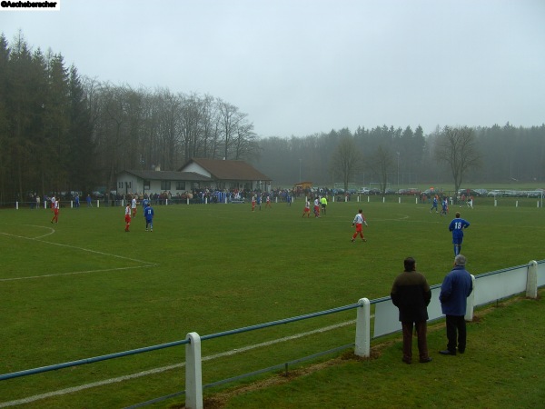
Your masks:
{"label": "white fence post nearest the camera, leftmost in the foreground fence", "polygon": [[185,407],[203,409],[203,364],[201,362],[201,336],[187,334],[185,344]]}

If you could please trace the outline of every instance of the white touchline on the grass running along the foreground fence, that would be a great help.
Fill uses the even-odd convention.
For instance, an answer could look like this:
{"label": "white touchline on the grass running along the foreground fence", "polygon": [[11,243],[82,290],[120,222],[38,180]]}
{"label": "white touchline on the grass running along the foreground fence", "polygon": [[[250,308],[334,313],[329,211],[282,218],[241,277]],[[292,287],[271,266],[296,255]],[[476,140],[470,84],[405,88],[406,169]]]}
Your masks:
{"label": "white touchline on the grass running along the foreground fence", "polygon": [[[324,326],[323,328],[318,328],[318,329],[309,331],[307,333],[286,336],[284,338],[279,338],[279,339],[275,339],[275,340],[272,340],[272,341],[267,341],[267,342],[262,343],[262,344],[254,344],[254,345],[244,346],[243,348],[233,349],[232,351],[227,351],[227,352],[220,353],[220,354],[213,354],[213,355],[210,355],[210,356],[204,356],[202,360],[203,360],[203,362],[204,361],[212,361],[213,359],[222,358],[223,356],[231,356],[231,355],[234,355],[234,354],[240,354],[240,353],[250,351],[250,350],[253,350],[253,349],[256,349],[256,348],[261,348],[262,346],[269,346],[269,345],[272,345],[272,344],[279,344],[279,343],[286,342],[286,341],[292,341],[293,339],[302,338],[303,336],[307,336],[307,335],[324,333],[326,331],[331,331],[333,329],[337,329],[337,328],[340,328],[342,326],[354,324],[355,322],[356,322],[355,320],[352,320],[352,321],[347,321],[347,322],[344,322],[344,323],[341,323],[341,324],[334,324],[334,325]],[[30,404],[32,402],[36,402],[36,401],[46,399],[46,398],[49,398],[49,397],[60,396],[60,395],[64,395],[64,394],[73,394],[74,392],[81,392],[81,391],[84,391],[85,389],[90,389],[90,388],[94,388],[94,387],[97,387],[97,386],[103,386],[105,384],[115,384],[115,383],[119,383],[119,382],[128,381],[128,380],[131,380],[131,379],[140,378],[140,377],[147,376],[147,375],[150,375],[150,374],[161,374],[163,372],[170,371],[170,370],[173,370],[173,369],[183,368],[183,366],[185,366],[185,363],[162,366],[160,368],[150,369],[148,371],[139,372],[137,374],[129,374],[129,375],[124,375],[124,376],[119,376],[117,378],[105,379],[104,381],[94,382],[92,384],[83,384],[83,385],[74,386],[74,387],[71,387],[71,388],[60,389],[60,390],[54,391],[54,392],[48,392],[46,394],[35,394],[34,396],[28,396],[26,398],[18,399],[16,401],[0,403],[0,408],[1,407],[8,407],[8,406],[15,406],[17,404]]]}

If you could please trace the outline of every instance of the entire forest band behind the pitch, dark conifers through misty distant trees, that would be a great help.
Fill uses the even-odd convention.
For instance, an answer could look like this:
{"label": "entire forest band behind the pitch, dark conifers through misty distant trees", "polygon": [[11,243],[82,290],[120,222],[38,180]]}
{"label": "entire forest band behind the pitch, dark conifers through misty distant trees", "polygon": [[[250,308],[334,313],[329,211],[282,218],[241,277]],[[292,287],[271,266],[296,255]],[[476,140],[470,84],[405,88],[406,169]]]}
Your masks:
{"label": "entire forest band behind the pitch, dark conifers through misty distant trees", "polygon": [[[471,148],[444,144],[458,131]],[[256,135],[251,118],[221,98],[113,85],[80,75],[60,53],[33,49],[22,33],[11,43],[0,35],[0,204],[30,193],[108,190],[123,170],[178,170],[192,157],[247,161],[274,187],[437,185],[458,177],[462,185],[543,187],[545,124]]]}

